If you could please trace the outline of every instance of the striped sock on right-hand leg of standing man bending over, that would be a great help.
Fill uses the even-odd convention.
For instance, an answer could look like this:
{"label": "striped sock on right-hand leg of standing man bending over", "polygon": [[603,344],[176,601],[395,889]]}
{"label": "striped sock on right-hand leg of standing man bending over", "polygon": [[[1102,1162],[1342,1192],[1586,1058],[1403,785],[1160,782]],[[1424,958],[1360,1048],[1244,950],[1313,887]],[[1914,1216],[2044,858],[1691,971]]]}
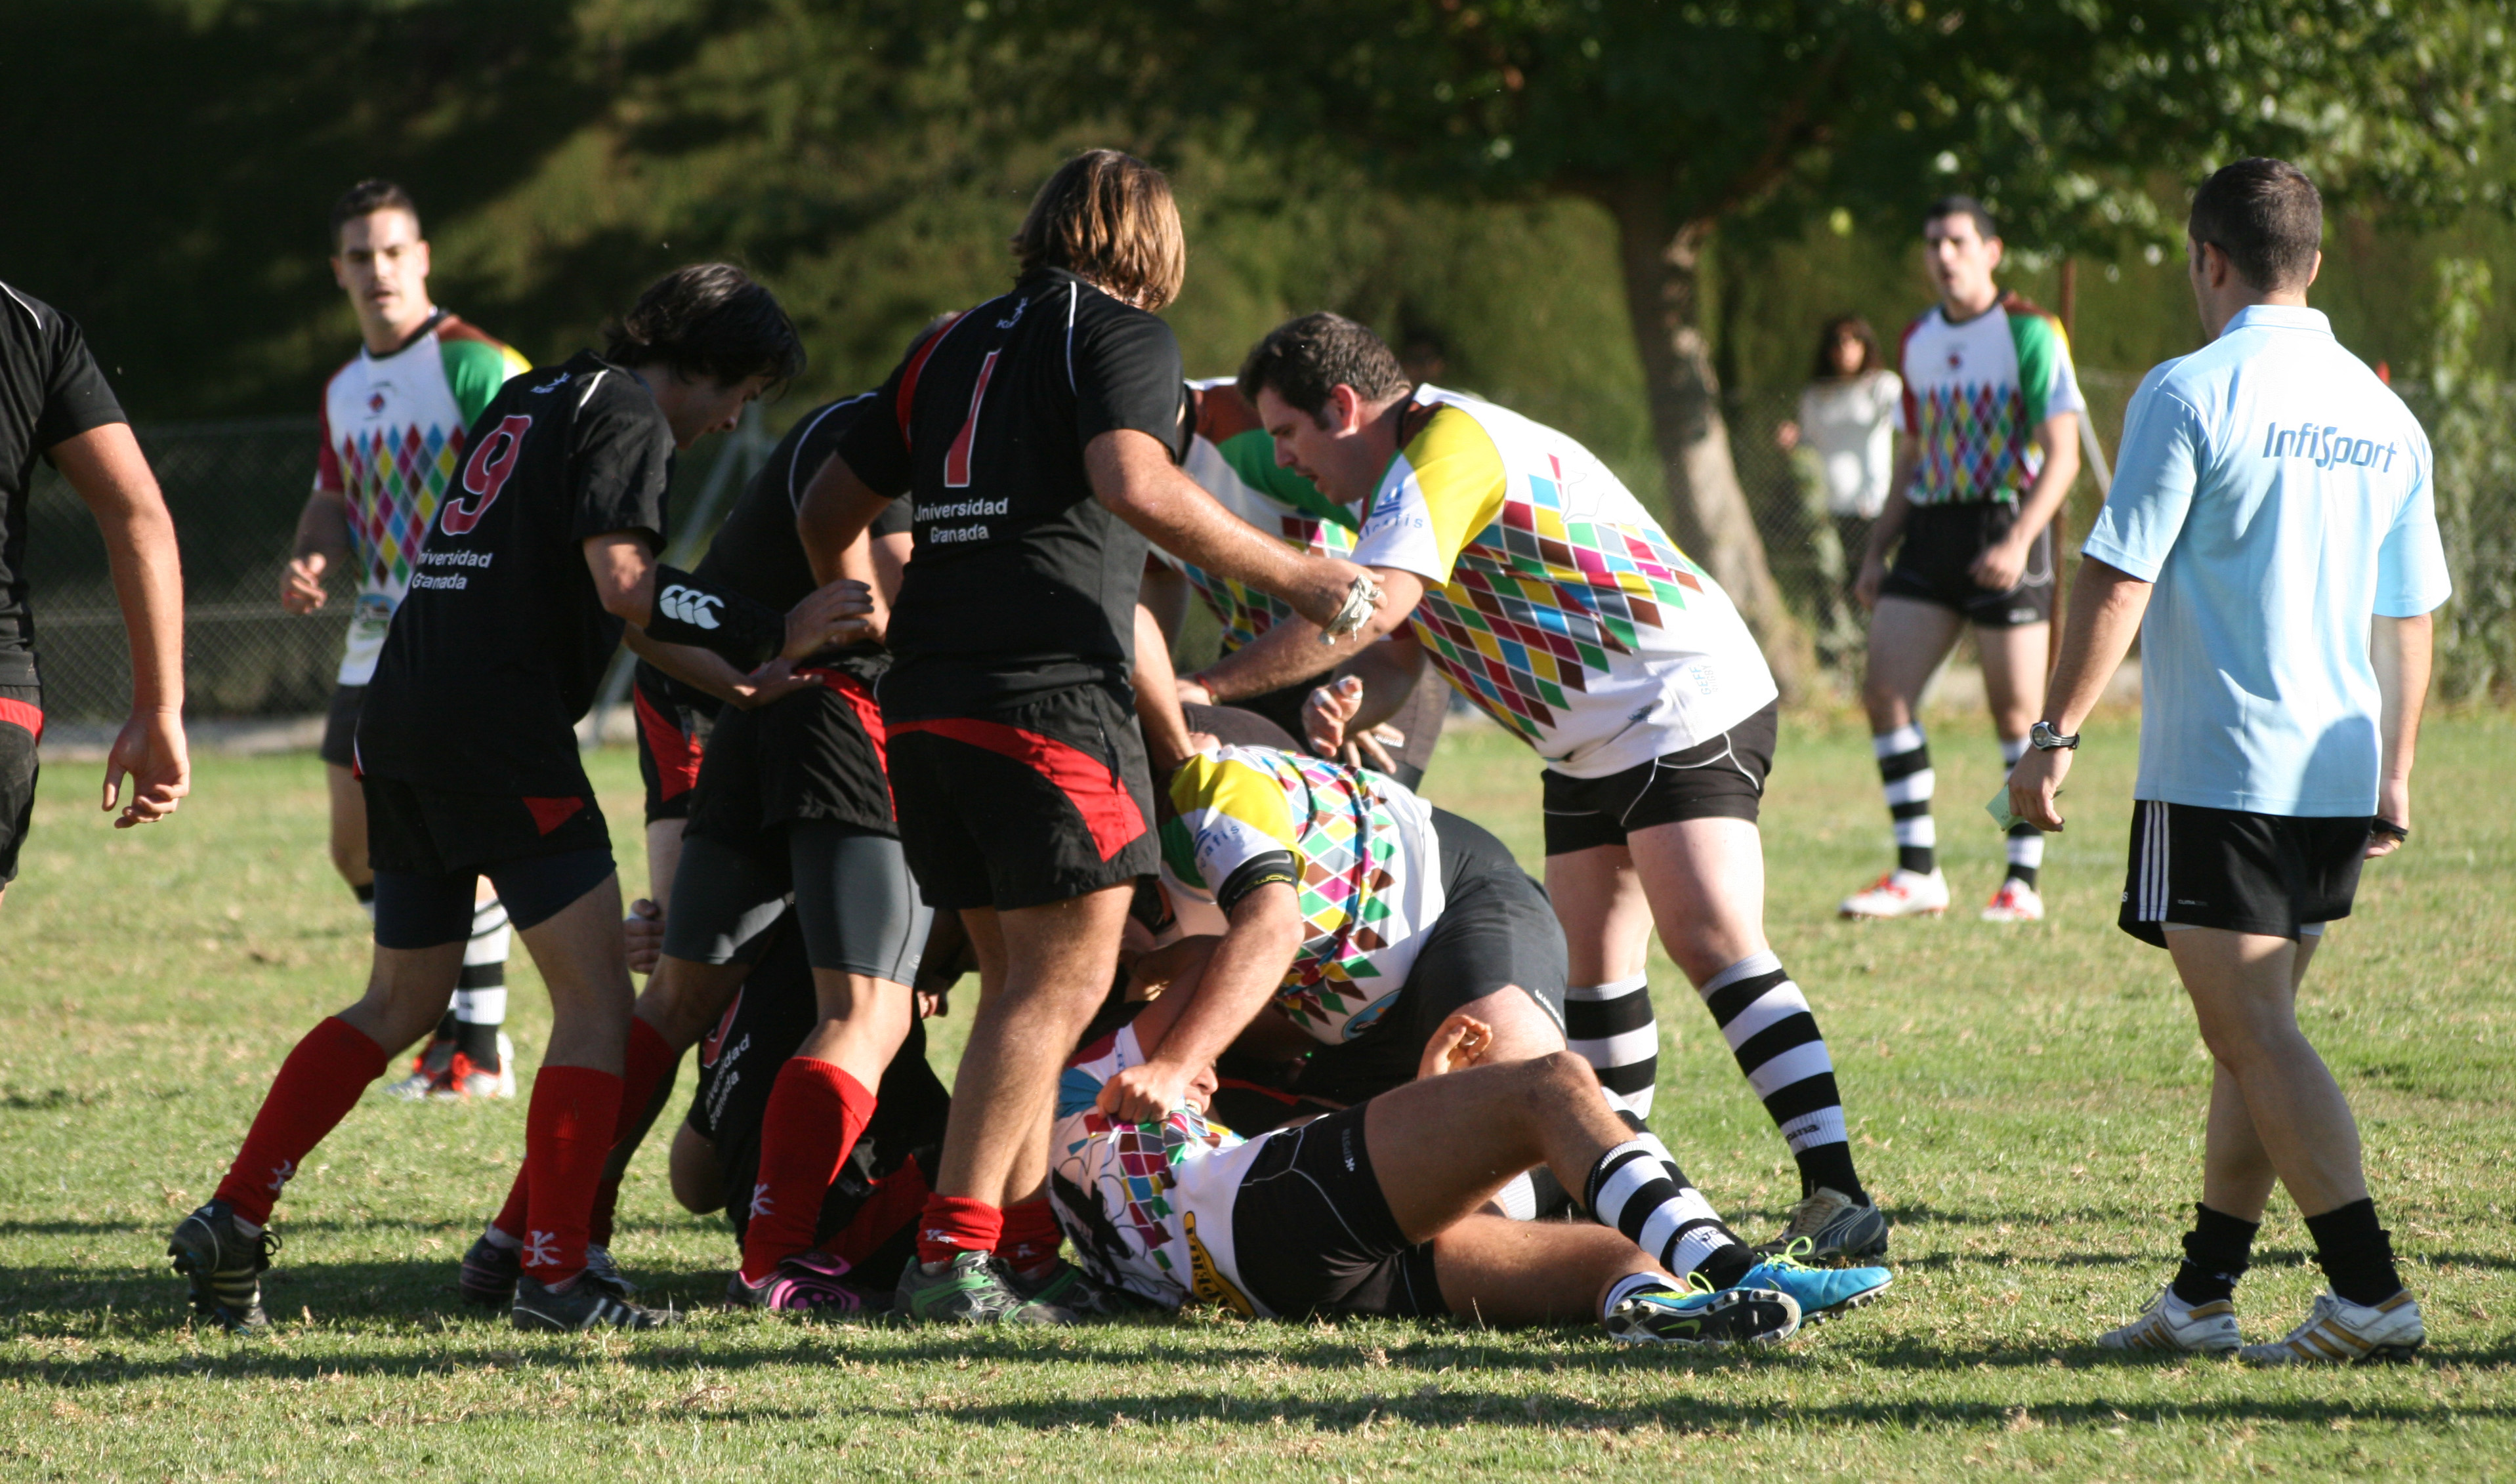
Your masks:
{"label": "striped sock on right-hand leg of standing man bending over", "polygon": [[1834,1089],[1834,1056],[1781,958],[1751,953],[1703,981],[1703,1009],[1713,1011],[1721,1039],[1746,1084],[1764,1099],[1764,1112],[1791,1144],[1799,1162],[1801,1195],[1829,1185],[1852,1200],[1869,1200],[1852,1170],[1852,1144],[1844,1134],[1844,1099]]}

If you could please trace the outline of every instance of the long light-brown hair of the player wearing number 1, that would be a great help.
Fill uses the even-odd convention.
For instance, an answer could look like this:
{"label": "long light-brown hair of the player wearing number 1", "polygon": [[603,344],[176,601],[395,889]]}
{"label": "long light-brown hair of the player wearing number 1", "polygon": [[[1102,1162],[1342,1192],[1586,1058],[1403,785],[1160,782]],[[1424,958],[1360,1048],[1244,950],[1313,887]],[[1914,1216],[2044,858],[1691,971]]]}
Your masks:
{"label": "long light-brown hair of the player wearing number 1", "polygon": [[1014,234],[1014,264],[1067,269],[1094,287],[1160,309],[1180,297],[1188,236],[1162,171],[1115,148],[1057,166]]}

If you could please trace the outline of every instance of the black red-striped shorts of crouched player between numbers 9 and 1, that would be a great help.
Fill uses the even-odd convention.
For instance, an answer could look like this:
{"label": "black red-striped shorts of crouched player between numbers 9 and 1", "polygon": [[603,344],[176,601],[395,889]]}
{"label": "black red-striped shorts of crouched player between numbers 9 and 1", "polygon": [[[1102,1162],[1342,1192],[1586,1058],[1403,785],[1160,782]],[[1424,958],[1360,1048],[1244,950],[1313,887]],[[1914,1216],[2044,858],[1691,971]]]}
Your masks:
{"label": "black red-striped shorts of crouched player between numbers 9 and 1", "polygon": [[682,795],[692,835],[745,845],[798,820],[898,835],[891,820],[883,707],[853,667],[808,667],[810,689],[757,709],[727,707],[707,734],[699,782]]}

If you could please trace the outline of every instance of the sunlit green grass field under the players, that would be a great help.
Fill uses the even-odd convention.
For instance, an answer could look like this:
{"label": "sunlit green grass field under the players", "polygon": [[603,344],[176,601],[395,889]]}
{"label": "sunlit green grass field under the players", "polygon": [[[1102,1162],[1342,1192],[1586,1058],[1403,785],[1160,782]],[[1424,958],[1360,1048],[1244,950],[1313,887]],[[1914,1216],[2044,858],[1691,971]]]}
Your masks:
{"label": "sunlit green grass field under the players", "polygon": [[[1799,717],[1766,812],[1769,926],[1829,1031],[1864,1177],[1897,1217],[1887,1303],[1736,1358],[1595,1331],[1183,1323],[1072,1333],[810,1328],[704,1308],[732,1263],[649,1139],[619,1253],[697,1305],[669,1336],[526,1338],[455,1303],[523,1102],[372,1097],[307,1162],[267,1280],[277,1333],[186,1323],[164,1235],[204,1200],[282,1054],[355,996],[365,921],[322,855],[312,757],[204,757],[156,830],[45,772],[0,911],[0,1476],[8,1479],[1376,1479],[2516,1471],[2516,807],[2501,714],[2435,719],[2418,835],[2325,941],[2310,1034],[2357,1104],[2430,1346],[2388,1371],[2116,1361],[2088,1336],[2166,1275],[2199,1187],[2207,1059],[2166,956],[2113,928],[2134,729],[2091,729],[2053,918],[1844,926],[1884,858],[1864,729]],[[1990,893],[1998,780],[1940,724],[1945,858]],[[594,760],[634,885],[637,767]],[[1535,767],[1479,729],[1427,787],[1537,860]],[[1656,963],[1656,1124],[1754,1232],[1796,1195],[1691,991]],[[518,961],[513,1034],[546,1029]],[[966,1011],[964,1011],[966,1014]],[[961,1021],[936,1026],[938,1064]],[[2322,1285],[2274,1202],[2247,1336]]]}

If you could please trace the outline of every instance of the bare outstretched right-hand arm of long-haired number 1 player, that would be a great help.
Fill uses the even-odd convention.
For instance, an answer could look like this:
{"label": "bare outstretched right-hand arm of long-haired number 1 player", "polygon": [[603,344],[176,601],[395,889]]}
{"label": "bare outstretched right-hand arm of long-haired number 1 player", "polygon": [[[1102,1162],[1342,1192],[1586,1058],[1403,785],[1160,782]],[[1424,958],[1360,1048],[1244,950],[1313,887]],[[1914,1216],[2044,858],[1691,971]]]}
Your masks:
{"label": "bare outstretched right-hand arm of long-haired number 1 player", "polygon": [[1336,621],[1364,576],[1351,561],[1303,556],[1225,511],[1150,433],[1102,433],[1084,445],[1084,473],[1099,503],[1162,551],[1273,594],[1318,626]]}

